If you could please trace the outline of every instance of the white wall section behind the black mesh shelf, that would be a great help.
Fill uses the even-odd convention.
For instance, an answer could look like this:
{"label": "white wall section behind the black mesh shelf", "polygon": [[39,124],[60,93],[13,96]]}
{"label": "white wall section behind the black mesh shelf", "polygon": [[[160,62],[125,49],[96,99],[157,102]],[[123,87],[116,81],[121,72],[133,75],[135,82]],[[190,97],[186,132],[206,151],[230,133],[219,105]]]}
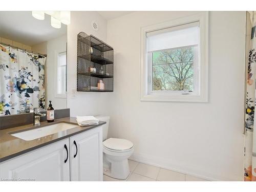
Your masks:
{"label": "white wall section behind the black mesh shelf", "polygon": [[[91,23],[95,20],[98,23],[98,31],[94,31]],[[71,94],[76,90],[76,69],[77,69],[77,34],[79,32],[92,34],[99,39],[106,41],[106,20],[96,11],[72,11],[71,24],[68,26],[68,82],[67,98],[68,108],[71,116],[76,115],[97,115],[107,113],[106,99],[111,93],[77,92],[75,97]]]}

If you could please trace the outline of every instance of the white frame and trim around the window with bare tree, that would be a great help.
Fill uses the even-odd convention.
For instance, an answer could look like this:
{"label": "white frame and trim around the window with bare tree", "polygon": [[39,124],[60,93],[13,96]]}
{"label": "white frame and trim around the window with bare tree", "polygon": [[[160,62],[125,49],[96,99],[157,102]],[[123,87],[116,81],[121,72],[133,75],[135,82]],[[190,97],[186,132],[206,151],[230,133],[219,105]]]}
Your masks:
{"label": "white frame and trim around the window with bare tree", "polygon": [[[152,58],[148,56],[146,33],[199,22],[199,57],[194,62],[194,92],[152,91]],[[194,54],[195,55],[195,54]],[[141,101],[208,102],[208,11],[141,28]],[[198,73],[198,74],[197,74]],[[197,78],[198,77],[198,78]]]}

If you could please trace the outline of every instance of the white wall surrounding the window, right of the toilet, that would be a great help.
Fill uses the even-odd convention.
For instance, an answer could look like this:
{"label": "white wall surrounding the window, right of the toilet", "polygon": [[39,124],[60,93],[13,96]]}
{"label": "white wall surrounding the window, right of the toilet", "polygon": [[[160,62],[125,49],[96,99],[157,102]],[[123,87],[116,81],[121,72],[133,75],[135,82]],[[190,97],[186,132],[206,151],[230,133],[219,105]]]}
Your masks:
{"label": "white wall surrounding the window, right of the toilet", "polygon": [[[209,13],[209,102],[140,101],[140,28],[189,14],[194,13],[145,11],[109,20],[108,43],[115,51],[114,93],[108,99],[110,136],[135,144],[132,159],[210,180],[241,180],[245,12]],[[79,28],[69,29],[68,41],[74,42],[69,46],[69,63],[74,65],[70,68],[76,65]],[[99,97],[88,105],[89,96],[80,94],[74,105],[91,108]]]}

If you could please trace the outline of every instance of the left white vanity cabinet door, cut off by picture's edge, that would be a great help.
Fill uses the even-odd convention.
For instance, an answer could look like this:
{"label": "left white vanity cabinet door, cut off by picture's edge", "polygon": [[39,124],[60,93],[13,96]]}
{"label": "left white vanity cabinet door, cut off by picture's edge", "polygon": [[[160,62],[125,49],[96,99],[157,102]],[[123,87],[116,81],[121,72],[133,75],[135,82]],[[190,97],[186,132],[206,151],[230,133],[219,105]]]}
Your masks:
{"label": "left white vanity cabinet door, cut off by picture's edge", "polygon": [[32,152],[4,161],[0,164],[2,179],[32,179],[35,181],[69,181],[69,139],[41,147]]}

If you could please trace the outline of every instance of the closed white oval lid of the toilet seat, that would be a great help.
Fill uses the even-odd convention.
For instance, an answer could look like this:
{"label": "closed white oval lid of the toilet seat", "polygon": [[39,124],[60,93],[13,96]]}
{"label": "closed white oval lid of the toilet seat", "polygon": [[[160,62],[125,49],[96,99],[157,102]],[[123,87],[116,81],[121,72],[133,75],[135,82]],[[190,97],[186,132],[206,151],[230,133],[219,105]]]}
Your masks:
{"label": "closed white oval lid of the toilet seat", "polygon": [[124,151],[133,147],[133,143],[126,139],[109,138],[103,141],[103,146],[111,150]]}

